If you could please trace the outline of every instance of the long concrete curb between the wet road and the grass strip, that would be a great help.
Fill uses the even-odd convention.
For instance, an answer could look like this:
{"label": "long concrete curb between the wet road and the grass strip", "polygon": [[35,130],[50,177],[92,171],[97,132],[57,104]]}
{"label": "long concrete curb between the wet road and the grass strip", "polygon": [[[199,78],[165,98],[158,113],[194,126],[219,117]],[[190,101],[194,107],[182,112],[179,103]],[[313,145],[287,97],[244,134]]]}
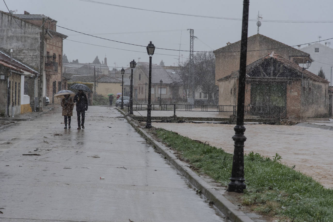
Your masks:
{"label": "long concrete curb between the wet road and the grass strip", "polygon": [[150,144],[154,146],[161,154],[167,159],[180,173],[183,175],[197,190],[201,190],[201,194],[205,196],[209,201],[213,202],[213,205],[220,210],[228,219],[232,222],[254,222],[245,213],[240,211],[233,203],[216,191],[211,185],[204,181],[188,166],[184,165],[174,154],[173,151],[166,147],[164,144],[157,142],[146,131],[134,123],[130,116],[125,115],[125,112],[120,111],[127,121],[138,131]]}

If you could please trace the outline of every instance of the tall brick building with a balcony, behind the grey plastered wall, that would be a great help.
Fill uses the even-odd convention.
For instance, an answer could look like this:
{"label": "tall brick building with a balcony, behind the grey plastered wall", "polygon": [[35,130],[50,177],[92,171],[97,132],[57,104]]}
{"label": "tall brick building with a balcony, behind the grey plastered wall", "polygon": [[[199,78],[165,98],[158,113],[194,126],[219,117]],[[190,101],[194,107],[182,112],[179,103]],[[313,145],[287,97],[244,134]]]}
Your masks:
{"label": "tall brick building with a balcony, behind the grey plastered wall", "polygon": [[[32,15],[24,11],[24,14],[14,14],[30,24],[45,29],[44,47],[44,84],[45,95],[50,98],[51,103],[60,104],[60,99],[54,98],[54,94],[64,89],[67,79],[62,78],[62,55],[63,40],[68,36],[57,32],[57,21],[45,15]],[[43,20],[45,23],[43,24]]]}

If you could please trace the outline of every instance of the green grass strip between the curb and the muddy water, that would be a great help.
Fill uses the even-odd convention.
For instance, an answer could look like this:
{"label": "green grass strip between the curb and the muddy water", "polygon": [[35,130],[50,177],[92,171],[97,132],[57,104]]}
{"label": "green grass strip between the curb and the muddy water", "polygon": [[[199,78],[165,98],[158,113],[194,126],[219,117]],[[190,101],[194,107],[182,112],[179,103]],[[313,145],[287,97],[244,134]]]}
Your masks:
{"label": "green grass strip between the curb and the muddy water", "polygon": [[[223,186],[228,185],[232,154],[165,129],[156,129],[155,133],[177,151],[179,159]],[[244,155],[243,204],[279,221],[332,222],[333,189],[324,188],[294,167],[281,164],[280,159],[278,153],[272,158],[253,152]]]}

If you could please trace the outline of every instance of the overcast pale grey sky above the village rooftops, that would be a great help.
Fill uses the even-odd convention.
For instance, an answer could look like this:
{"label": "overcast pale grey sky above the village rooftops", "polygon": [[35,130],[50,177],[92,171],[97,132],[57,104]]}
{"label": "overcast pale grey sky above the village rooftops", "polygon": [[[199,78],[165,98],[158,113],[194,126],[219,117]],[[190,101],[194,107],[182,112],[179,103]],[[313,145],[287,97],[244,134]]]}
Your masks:
{"label": "overcast pale grey sky above the village rooftops", "polygon": [[[104,61],[106,55],[110,69],[129,67],[133,59],[136,62],[139,58],[142,62],[149,62],[145,48],[149,41],[152,41],[157,48],[179,50],[179,44],[181,44],[180,50],[189,50],[187,29],[194,29],[194,36],[198,38],[194,40],[194,51],[212,51],[225,46],[227,42],[236,42],[241,37],[240,20],[146,11],[241,19],[243,10],[241,0],[93,1],[125,7],[92,3],[87,0],[5,0],[8,8],[17,10],[17,14],[23,14],[24,10],[30,14],[44,14],[57,20],[58,26],[110,40],[140,45],[103,40],[57,27],[58,32],[68,35],[68,38],[64,40],[64,53],[70,61],[78,59],[80,63],[91,63],[96,56],[100,61]],[[333,38],[332,8],[332,0],[311,3],[301,0],[250,0],[249,19],[256,20],[259,11],[263,17],[259,33],[294,46],[319,41],[318,36],[321,36],[320,40]],[[0,9],[8,11],[3,0],[0,2]],[[265,22],[265,20],[332,22],[295,23]],[[256,21],[249,21],[248,36],[256,33]],[[333,39],[327,42],[333,44]],[[333,45],[330,47],[332,48]],[[178,57],[180,62],[184,62],[188,54],[189,52],[179,53],[179,51],[156,49],[153,64],[159,64],[163,60],[167,66],[177,65]]]}

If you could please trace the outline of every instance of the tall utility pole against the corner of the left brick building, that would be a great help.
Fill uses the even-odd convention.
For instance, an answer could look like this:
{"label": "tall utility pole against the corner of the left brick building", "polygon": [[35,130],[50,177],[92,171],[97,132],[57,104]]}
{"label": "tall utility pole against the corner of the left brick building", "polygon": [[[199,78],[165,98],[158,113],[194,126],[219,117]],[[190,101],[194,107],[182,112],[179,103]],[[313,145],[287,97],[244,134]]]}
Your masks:
{"label": "tall utility pole against the corner of the left brick building", "polygon": [[[40,59],[39,59],[39,78],[38,78],[38,111],[43,111],[43,83],[44,83],[44,35],[45,35],[45,18],[42,19],[42,31],[40,33],[41,42],[40,42]],[[45,95],[46,96],[46,95]],[[36,99],[35,99],[36,103]]]}

